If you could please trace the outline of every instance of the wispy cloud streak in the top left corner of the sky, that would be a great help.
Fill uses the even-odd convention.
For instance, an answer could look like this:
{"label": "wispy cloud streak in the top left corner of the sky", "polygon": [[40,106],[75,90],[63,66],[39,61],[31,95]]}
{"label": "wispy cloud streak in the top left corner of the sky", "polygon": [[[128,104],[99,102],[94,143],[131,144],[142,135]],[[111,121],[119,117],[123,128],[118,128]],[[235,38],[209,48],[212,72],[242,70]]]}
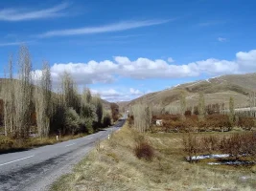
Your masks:
{"label": "wispy cloud streak in the top left corner of the sky", "polygon": [[52,18],[64,15],[63,10],[69,7],[68,3],[62,3],[44,10],[4,9],[0,10],[0,21],[24,21],[43,18]]}

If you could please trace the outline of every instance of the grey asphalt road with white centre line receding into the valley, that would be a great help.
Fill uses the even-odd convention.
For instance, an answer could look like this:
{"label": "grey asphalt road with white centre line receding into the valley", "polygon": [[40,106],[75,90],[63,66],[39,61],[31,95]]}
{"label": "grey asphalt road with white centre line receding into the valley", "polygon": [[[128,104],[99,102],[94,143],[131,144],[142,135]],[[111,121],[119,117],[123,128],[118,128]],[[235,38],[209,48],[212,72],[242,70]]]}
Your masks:
{"label": "grey asphalt road with white centre line receding into the valley", "polygon": [[72,166],[94,147],[96,141],[107,138],[124,123],[125,119],[121,119],[115,126],[84,138],[0,155],[0,190],[48,190],[54,180],[71,172]]}

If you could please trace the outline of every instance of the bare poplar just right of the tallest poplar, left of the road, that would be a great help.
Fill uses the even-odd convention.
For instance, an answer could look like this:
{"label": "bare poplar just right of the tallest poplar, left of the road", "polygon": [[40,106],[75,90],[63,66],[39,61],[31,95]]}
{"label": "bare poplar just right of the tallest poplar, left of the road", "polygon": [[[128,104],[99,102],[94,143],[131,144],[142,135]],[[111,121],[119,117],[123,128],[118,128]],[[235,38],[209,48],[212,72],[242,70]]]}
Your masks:
{"label": "bare poplar just right of the tallest poplar, left of the road", "polygon": [[47,62],[43,63],[41,76],[39,76],[36,85],[34,100],[38,136],[40,138],[47,138],[50,131],[50,118],[53,114],[52,79]]}

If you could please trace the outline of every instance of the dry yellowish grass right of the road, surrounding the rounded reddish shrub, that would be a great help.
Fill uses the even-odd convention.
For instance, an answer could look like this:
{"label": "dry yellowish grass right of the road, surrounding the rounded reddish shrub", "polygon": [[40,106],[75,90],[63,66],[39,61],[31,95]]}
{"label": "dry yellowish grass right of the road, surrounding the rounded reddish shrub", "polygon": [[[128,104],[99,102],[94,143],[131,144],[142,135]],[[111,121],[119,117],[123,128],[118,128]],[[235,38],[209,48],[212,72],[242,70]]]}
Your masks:
{"label": "dry yellowish grass right of the road, surrounding the rounded reddish shrub", "polygon": [[98,142],[71,174],[53,184],[52,191],[256,189],[256,175],[250,169],[185,161],[182,134],[144,135],[154,148],[154,158],[137,159],[134,148],[140,136],[125,126],[109,140]]}

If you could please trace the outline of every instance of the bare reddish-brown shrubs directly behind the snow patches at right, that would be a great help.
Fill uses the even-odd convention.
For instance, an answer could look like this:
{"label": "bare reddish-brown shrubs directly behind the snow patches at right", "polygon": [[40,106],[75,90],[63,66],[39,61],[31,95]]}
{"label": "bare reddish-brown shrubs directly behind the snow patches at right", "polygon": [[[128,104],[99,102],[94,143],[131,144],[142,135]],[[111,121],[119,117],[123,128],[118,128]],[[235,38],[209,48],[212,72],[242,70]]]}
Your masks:
{"label": "bare reddish-brown shrubs directly behind the snow patches at right", "polygon": [[233,134],[228,137],[207,136],[198,138],[195,134],[183,136],[183,146],[189,160],[198,154],[223,153],[230,158],[250,158],[256,160],[256,134],[253,132]]}

